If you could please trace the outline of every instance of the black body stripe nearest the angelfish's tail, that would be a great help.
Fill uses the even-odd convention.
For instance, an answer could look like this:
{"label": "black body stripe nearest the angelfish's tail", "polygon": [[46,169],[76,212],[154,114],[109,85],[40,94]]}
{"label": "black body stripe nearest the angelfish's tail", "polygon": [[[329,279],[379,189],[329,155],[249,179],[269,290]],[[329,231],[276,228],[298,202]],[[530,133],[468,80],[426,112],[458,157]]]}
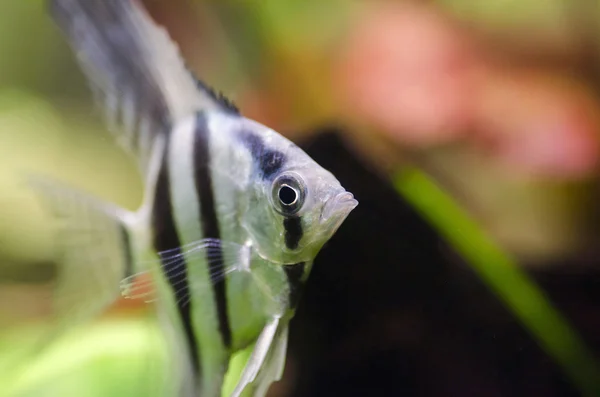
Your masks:
{"label": "black body stripe nearest the angelfish's tail", "polygon": [[[165,151],[168,153],[168,150]],[[173,219],[173,207],[171,204],[171,182],[168,172],[168,156],[161,166],[156,184],[156,193],[154,196],[154,208],[152,212],[152,224],[154,227],[154,248],[157,252],[166,250],[177,250],[181,254],[181,242],[175,228]],[[170,251],[172,254],[173,251]],[[185,338],[188,344],[190,359],[195,374],[200,374],[200,360],[198,356],[198,342],[194,334],[191,320],[191,302],[188,299],[189,284],[187,275],[187,264],[173,264],[166,261],[161,255],[163,271],[167,281],[173,288],[175,299],[177,300],[177,309],[181,317],[181,323],[185,332]],[[170,261],[172,262],[172,261]],[[173,266],[178,267],[178,271],[173,270]]]}

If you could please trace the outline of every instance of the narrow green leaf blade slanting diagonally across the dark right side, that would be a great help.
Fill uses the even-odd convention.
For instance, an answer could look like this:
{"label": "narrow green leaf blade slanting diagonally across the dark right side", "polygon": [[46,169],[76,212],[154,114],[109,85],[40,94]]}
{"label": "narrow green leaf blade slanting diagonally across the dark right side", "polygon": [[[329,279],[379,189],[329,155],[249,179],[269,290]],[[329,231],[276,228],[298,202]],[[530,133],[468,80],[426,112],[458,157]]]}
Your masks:
{"label": "narrow green leaf blade slanting diagonally across the dark right side", "polygon": [[600,394],[600,366],[565,317],[516,261],[427,175],[404,169],[395,186],[473,267],[584,396]]}

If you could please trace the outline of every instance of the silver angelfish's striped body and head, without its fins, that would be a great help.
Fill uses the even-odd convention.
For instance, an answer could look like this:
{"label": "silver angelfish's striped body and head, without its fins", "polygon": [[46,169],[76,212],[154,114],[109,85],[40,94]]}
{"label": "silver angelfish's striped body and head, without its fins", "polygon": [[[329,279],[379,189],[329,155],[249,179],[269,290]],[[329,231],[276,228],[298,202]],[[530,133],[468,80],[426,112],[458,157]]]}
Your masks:
{"label": "silver angelfish's striped body and head, without its fins", "polygon": [[[177,263],[185,280],[180,271],[169,278],[169,259],[162,263],[180,303],[173,319],[184,324],[187,348],[197,352],[192,367],[203,373],[204,393],[218,393],[223,372],[209,368],[222,368],[271,321],[279,323],[277,336],[287,337],[312,259],[356,202],[296,145],[239,115],[198,113],[174,128],[166,146],[149,228],[156,252],[219,240],[221,252]],[[289,210],[292,216],[274,203],[288,188],[303,201]],[[206,354],[203,340],[219,359]]]}

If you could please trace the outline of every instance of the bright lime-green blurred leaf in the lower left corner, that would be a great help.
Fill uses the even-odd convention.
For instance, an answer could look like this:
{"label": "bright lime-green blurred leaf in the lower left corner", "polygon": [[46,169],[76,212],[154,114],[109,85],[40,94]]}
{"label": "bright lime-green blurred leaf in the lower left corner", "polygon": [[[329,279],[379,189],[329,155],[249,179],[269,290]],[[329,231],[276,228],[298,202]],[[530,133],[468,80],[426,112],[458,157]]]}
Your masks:
{"label": "bright lime-green blurred leaf in the lower left corner", "polygon": [[[161,390],[166,390],[165,375],[170,373],[165,365],[168,362],[166,346],[153,325],[144,319],[120,318],[71,332],[30,364],[16,380],[3,379],[2,395],[164,395]],[[5,337],[2,343],[21,346],[30,338],[31,335],[21,332]],[[0,367],[1,364],[0,360]]]}

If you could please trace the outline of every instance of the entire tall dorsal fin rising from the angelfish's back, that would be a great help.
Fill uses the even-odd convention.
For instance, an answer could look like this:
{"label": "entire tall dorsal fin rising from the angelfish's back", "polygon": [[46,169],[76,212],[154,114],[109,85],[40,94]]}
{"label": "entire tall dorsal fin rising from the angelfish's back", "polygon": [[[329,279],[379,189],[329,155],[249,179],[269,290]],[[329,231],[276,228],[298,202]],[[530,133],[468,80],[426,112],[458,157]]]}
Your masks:
{"label": "entire tall dorsal fin rising from the angelfish's back", "polygon": [[50,10],[117,140],[145,171],[156,136],[197,111],[236,112],[197,80],[137,0],[52,0]]}

